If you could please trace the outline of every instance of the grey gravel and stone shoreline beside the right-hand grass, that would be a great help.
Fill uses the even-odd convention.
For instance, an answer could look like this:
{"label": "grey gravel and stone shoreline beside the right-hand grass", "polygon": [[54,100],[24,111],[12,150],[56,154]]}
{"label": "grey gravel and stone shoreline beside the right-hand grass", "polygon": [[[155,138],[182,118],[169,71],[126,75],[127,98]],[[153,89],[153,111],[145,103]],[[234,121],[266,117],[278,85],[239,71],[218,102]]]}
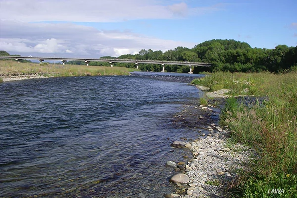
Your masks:
{"label": "grey gravel and stone shoreline beside the right-hand grass", "polygon": [[[196,87],[199,89],[198,86]],[[227,96],[224,96],[223,92],[212,93],[215,97],[213,101],[225,100]],[[176,192],[164,195],[165,198],[224,198],[227,196],[225,190],[228,184],[236,180],[239,172],[247,169],[247,164],[251,162],[253,150],[239,143],[234,145],[228,143],[228,128],[220,126],[218,118],[217,120],[213,118],[215,114],[213,107],[212,105],[184,105],[187,109],[186,115],[180,119],[191,124],[191,121],[187,121],[191,119],[189,115],[195,117],[196,120],[192,122],[197,122],[198,133],[201,132],[199,129],[204,129],[208,134],[200,134],[198,139],[184,143],[186,145],[184,149],[190,149],[193,158],[188,160],[183,166],[184,170],[179,173],[185,174],[188,181],[174,182],[177,187]]]}

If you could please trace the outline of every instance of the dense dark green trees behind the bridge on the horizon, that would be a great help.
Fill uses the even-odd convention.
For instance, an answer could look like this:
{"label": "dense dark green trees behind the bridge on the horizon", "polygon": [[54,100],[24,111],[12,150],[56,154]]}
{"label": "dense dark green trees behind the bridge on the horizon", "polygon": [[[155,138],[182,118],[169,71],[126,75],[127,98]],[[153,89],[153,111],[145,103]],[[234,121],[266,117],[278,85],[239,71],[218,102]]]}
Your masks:
{"label": "dense dark green trees behind the bridge on the horizon", "polygon": [[[7,52],[6,52],[7,53]],[[137,59],[137,60],[166,60],[166,61],[189,61],[209,62],[212,67],[194,67],[194,73],[230,71],[230,72],[283,72],[297,68],[297,46],[288,47],[278,45],[274,49],[252,48],[246,42],[222,39],[213,39],[200,43],[189,49],[179,46],[175,49],[153,51],[142,49],[138,54],[121,55],[119,57],[104,56],[101,58]],[[84,62],[69,61],[67,64],[83,65]],[[90,62],[90,66],[110,66],[105,62]],[[135,68],[132,63],[114,63],[114,66]],[[161,71],[158,64],[139,64],[142,71]],[[165,65],[167,72],[189,71],[189,66]]]}

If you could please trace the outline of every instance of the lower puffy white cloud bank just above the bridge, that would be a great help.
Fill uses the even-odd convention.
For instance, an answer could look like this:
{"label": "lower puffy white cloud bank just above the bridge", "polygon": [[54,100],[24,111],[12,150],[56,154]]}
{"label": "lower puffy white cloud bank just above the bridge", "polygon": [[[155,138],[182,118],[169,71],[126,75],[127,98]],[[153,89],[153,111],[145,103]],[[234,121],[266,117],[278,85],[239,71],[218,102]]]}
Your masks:
{"label": "lower puffy white cloud bank just above the bridge", "polygon": [[131,31],[104,31],[73,23],[27,23],[1,20],[0,50],[73,57],[135,54],[141,49],[163,50],[196,43],[148,37]]}

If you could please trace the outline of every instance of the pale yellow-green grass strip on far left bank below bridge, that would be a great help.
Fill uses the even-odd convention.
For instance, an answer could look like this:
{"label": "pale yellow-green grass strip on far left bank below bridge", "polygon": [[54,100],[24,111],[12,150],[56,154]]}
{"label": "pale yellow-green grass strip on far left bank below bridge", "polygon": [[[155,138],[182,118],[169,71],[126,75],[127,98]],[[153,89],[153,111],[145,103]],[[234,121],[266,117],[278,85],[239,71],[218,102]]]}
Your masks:
{"label": "pale yellow-green grass strip on far left bank below bridge", "polygon": [[77,66],[49,63],[40,65],[36,63],[17,63],[10,60],[0,61],[0,77],[2,81],[3,78],[11,76],[32,74],[48,77],[129,75],[129,69],[120,67]]}

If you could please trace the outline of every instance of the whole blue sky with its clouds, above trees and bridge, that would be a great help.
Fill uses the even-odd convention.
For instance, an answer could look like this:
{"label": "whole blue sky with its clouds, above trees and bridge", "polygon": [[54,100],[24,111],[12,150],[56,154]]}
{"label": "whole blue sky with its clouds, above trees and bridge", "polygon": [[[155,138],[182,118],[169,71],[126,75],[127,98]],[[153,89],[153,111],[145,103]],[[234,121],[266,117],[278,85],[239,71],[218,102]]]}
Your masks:
{"label": "whole blue sky with its clouds, above trees and bridge", "polygon": [[0,0],[0,50],[99,58],[211,39],[297,45],[297,0]]}

